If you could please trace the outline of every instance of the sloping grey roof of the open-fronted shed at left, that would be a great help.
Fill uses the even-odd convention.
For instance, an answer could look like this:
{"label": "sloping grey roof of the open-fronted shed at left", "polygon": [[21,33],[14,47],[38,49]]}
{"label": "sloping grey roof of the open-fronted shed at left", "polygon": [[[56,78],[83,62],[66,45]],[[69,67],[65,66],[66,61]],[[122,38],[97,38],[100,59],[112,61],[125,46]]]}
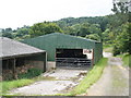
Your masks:
{"label": "sloping grey roof of the open-fronted shed at left", "polygon": [[10,38],[0,37],[0,58],[25,56],[40,52],[45,52],[45,50],[40,50],[38,48]]}

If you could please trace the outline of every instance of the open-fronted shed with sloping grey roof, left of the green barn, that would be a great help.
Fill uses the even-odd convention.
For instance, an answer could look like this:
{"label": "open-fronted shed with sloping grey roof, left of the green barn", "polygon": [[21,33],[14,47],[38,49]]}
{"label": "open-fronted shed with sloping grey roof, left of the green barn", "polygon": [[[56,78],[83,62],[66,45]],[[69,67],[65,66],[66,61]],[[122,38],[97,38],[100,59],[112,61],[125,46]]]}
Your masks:
{"label": "open-fronted shed with sloping grey roof, left of the green barn", "polygon": [[17,74],[37,68],[46,71],[46,51],[26,44],[0,37],[0,61],[2,78],[17,78]]}

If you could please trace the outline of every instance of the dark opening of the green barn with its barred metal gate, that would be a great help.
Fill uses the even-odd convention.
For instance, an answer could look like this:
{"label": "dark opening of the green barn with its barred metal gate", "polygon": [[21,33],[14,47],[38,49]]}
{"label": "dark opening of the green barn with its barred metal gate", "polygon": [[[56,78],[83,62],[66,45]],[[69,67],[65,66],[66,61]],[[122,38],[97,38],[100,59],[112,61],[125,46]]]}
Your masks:
{"label": "dark opening of the green barn with its barred metal gate", "polygon": [[87,54],[83,53],[83,49],[56,49],[57,66],[82,68],[91,64],[92,59],[87,59]]}

